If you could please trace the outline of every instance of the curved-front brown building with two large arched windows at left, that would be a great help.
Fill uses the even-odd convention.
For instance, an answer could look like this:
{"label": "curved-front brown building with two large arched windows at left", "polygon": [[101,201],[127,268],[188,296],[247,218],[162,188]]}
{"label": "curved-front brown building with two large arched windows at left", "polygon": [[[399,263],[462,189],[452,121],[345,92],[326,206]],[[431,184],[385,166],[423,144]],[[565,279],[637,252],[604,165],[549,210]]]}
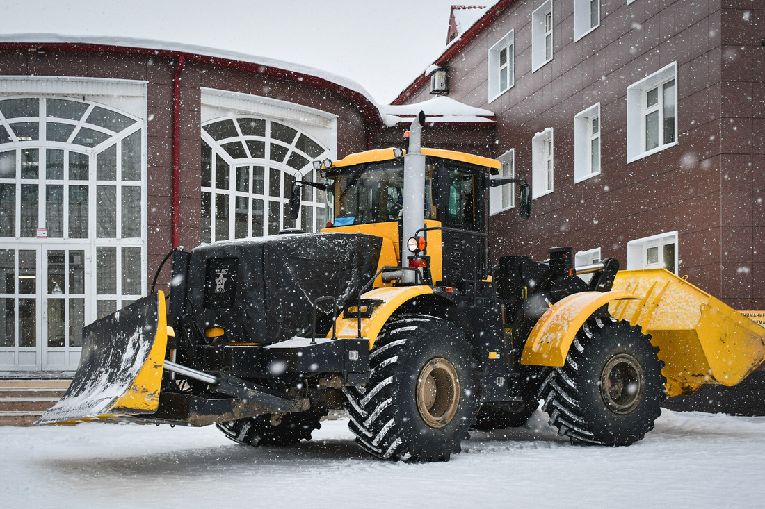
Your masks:
{"label": "curved-front brown building with two large arched windows at left", "polygon": [[[295,226],[292,180],[381,127],[356,83],[292,64],[0,43],[0,371],[77,368],[83,324],[147,293],[171,248]],[[304,199],[314,231],[324,199]]]}

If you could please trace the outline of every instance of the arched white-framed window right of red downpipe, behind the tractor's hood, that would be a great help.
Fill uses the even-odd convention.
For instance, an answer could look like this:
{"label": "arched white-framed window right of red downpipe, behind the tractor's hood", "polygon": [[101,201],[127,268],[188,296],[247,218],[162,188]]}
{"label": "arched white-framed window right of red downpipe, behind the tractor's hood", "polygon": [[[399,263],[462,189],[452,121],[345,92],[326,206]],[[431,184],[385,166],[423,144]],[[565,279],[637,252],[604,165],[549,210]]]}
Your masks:
{"label": "arched white-framed window right of red downpipe, behind the tractor's hood", "polygon": [[326,147],[281,122],[239,116],[202,126],[202,242],[324,228],[324,192],[303,187],[297,223],[289,210],[292,183],[316,181],[311,161]]}

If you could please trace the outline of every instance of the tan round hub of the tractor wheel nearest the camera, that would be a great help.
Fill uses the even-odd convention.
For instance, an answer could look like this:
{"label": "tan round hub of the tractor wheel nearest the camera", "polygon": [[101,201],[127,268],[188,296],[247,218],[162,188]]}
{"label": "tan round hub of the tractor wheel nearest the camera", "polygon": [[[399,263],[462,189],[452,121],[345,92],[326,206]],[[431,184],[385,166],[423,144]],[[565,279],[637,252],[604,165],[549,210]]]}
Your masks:
{"label": "tan round hub of the tractor wheel nearest the camera", "polygon": [[417,409],[428,426],[442,428],[454,418],[460,403],[457,370],[445,358],[434,358],[417,379]]}

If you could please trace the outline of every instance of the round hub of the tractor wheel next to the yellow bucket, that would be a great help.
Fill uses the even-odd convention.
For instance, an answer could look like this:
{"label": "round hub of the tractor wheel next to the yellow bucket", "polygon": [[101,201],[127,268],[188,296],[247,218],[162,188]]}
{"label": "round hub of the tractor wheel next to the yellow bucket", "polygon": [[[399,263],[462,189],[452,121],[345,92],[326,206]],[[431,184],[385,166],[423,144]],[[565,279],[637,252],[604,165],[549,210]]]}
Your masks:
{"label": "round hub of the tractor wheel next to the yellow bucket", "polygon": [[632,355],[616,355],[603,368],[601,396],[612,412],[625,414],[635,410],[643,400],[645,389],[643,368]]}

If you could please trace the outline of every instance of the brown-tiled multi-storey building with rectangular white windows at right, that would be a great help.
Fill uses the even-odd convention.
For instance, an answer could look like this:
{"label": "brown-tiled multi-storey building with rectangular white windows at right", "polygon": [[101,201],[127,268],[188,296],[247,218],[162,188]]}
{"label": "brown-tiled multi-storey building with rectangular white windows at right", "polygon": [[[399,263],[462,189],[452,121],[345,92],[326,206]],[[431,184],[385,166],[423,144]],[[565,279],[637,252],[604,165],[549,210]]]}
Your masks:
{"label": "brown-tiled multi-storey building with rectangular white windows at right", "polygon": [[[526,221],[495,196],[498,254],[571,245],[765,306],[762,2],[501,0],[435,68],[496,116],[480,154],[534,187]],[[394,104],[431,97],[430,77]]]}

